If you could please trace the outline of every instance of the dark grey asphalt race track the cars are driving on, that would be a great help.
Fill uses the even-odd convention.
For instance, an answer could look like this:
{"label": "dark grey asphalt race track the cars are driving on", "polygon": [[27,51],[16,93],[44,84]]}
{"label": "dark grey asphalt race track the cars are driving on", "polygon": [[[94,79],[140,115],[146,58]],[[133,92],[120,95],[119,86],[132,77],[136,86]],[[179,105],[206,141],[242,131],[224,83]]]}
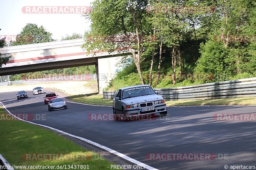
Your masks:
{"label": "dark grey asphalt race track the cars are driving on", "polygon": [[[84,137],[157,169],[256,166],[256,122],[216,121],[213,117],[216,113],[256,113],[256,106],[168,107],[168,116],[164,118],[156,115],[152,120],[123,122],[91,119],[91,114],[112,115],[112,107],[68,102],[68,109],[49,112],[44,105],[44,94],[34,96],[28,91],[28,99],[21,100],[15,94],[0,93],[0,101],[12,114],[31,114],[31,122]],[[211,153],[216,157],[149,160],[150,153],[162,156],[162,153]]]}

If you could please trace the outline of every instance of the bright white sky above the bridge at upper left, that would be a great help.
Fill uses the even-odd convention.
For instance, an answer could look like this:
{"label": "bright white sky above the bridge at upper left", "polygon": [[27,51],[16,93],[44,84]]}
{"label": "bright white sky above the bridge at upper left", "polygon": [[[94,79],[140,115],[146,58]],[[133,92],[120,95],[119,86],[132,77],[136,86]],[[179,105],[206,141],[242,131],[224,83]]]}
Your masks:
{"label": "bright white sky above the bridge at upper left", "polygon": [[52,38],[60,40],[66,34],[80,33],[90,30],[90,21],[79,13],[24,13],[28,6],[92,6],[94,0],[0,0],[0,37],[1,35],[17,35],[27,23],[43,26],[52,33]]}

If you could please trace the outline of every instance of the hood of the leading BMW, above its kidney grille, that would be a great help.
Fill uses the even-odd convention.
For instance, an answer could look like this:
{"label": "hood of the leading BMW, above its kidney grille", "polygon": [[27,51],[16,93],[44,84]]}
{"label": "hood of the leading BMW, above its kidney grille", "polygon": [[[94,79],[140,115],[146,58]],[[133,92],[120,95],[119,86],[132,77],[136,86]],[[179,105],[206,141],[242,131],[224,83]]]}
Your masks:
{"label": "hood of the leading BMW, above its kidney grille", "polygon": [[156,100],[162,100],[162,99],[163,99],[162,96],[157,94],[152,94],[147,96],[127,98],[127,99],[124,99],[123,101],[125,101],[128,105],[131,105],[131,104],[145,103],[149,101],[156,101]]}

